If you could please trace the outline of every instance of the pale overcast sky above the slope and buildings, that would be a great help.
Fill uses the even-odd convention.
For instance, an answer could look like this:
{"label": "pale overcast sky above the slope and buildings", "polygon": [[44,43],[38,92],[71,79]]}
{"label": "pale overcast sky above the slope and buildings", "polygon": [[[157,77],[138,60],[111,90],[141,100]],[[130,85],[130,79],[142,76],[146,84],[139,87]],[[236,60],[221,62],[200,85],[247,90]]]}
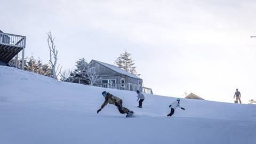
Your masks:
{"label": "pale overcast sky above the slope and buildings", "polygon": [[64,69],[132,53],[154,94],[256,99],[256,1],[0,0],[0,29],[27,37],[26,56],[49,59],[51,30]]}

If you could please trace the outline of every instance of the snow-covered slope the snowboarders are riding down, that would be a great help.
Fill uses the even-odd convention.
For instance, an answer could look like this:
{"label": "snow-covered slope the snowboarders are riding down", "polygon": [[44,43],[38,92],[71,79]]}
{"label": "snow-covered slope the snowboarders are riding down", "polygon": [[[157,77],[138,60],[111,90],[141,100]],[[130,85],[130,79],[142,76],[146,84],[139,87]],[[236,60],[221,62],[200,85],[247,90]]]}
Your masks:
{"label": "snow-covered slope the snowboarders are riding down", "polygon": [[[99,114],[109,91],[136,117],[114,105]],[[255,143],[256,105],[181,99],[185,111],[166,117],[175,98],[63,83],[0,66],[0,143]]]}

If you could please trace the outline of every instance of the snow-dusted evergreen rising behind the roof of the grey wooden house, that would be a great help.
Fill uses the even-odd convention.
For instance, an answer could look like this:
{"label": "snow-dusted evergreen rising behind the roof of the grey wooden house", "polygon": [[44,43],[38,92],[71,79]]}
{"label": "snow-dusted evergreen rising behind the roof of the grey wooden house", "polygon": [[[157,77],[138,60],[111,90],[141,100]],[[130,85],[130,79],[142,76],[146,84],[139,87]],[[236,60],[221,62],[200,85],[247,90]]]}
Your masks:
{"label": "snow-dusted evergreen rising behind the roof of the grey wooden house", "polygon": [[137,74],[136,67],[134,66],[135,63],[134,60],[132,60],[132,54],[128,53],[126,50],[124,50],[124,53],[121,53],[116,59],[115,64],[118,68],[122,68],[129,73],[140,76],[140,74]]}

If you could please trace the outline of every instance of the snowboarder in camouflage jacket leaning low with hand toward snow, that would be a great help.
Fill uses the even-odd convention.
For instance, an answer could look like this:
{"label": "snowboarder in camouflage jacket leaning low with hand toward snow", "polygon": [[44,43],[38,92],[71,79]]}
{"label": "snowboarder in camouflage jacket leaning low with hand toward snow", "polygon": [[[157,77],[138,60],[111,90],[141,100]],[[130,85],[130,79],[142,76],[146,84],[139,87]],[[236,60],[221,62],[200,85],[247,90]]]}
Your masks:
{"label": "snowboarder in camouflage jacket leaning low with hand toward snow", "polygon": [[98,114],[108,103],[115,105],[121,114],[127,114],[126,117],[132,116],[134,114],[132,110],[123,107],[122,99],[115,97],[114,95],[107,93],[106,91],[103,91],[102,95],[103,97],[105,97],[105,101],[102,103],[100,109],[97,110]]}

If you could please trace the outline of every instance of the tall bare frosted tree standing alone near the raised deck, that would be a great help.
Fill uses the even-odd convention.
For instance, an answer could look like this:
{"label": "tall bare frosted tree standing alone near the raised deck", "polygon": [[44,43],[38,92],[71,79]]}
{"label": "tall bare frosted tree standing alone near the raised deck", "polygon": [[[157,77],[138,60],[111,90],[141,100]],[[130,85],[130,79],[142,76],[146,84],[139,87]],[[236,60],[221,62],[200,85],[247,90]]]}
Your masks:
{"label": "tall bare frosted tree standing alone near the raised deck", "polygon": [[[52,33],[51,31],[49,31],[48,33],[46,33],[48,38],[47,38],[47,42],[48,42],[48,47],[50,50],[50,65],[52,67],[52,73],[53,73],[53,78],[58,79],[59,74],[61,73],[61,69],[62,66],[60,67],[60,64],[58,65],[58,67],[56,68],[57,65],[57,60],[58,60],[58,50],[56,50],[56,46],[54,44],[54,39],[52,38]],[[60,67],[60,69],[59,69]]]}

